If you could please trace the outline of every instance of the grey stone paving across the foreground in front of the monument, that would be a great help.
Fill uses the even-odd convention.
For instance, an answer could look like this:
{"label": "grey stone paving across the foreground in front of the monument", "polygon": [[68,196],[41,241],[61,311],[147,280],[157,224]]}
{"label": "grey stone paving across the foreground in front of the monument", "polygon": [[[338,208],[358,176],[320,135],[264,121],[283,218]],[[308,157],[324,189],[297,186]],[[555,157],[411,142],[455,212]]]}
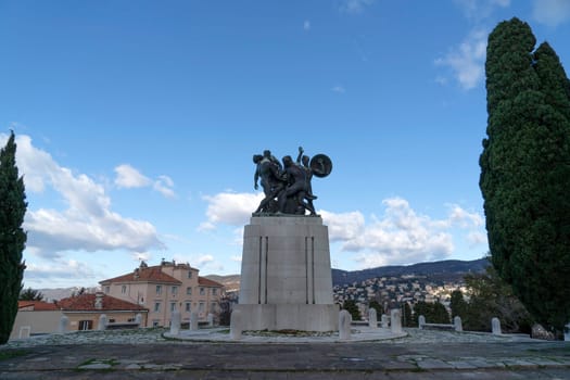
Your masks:
{"label": "grey stone paving across the foreground in front of the monument", "polygon": [[257,342],[236,343],[227,329],[206,331],[228,339],[140,329],[11,341],[0,346],[0,379],[570,379],[568,343],[521,335],[404,329],[373,341],[251,333]]}

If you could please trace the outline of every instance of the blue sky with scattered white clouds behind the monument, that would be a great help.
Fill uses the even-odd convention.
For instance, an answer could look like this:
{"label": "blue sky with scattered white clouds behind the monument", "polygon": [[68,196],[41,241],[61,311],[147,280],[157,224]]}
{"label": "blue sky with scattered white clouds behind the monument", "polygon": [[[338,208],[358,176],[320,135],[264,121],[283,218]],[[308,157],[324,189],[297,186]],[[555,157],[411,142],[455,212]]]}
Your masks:
{"label": "blue sky with scattered white clouds behind the monument", "polygon": [[0,2],[25,286],[238,274],[252,155],[299,145],[333,162],[333,267],[482,257],[486,37],[512,16],[568,65],[568,0]]}

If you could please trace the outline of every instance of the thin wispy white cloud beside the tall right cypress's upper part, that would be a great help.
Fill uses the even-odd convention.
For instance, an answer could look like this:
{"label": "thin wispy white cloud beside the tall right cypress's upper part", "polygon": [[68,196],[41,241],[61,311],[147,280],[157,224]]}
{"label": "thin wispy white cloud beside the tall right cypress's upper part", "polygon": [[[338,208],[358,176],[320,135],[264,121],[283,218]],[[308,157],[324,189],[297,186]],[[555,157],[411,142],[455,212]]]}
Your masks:
{"label": "thin wispy white cloud beside the tall right cypress's upper part", "polygon": [[[435,65],[449,67],[461,88],[469,90],[479,85],[484,76],[487,33],[473,30],[458,47],[453,48]],[[442,77],[439,76],[439,83]]]}

